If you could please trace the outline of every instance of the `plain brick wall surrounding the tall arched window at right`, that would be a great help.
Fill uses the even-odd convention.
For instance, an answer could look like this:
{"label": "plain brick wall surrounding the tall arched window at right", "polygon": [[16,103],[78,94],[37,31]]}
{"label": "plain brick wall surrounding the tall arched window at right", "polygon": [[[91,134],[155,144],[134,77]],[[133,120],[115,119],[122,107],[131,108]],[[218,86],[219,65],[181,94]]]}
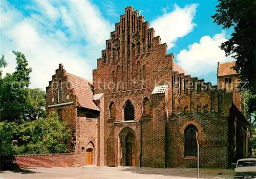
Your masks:
{"label": "plain brick wall surrounding the tall arched window at right", "polygon": [[181,114],[169,121],[170,167],[197,167],[197,160],[184,157],[184,129],[194,124],[199,131],[200,167],[228,165],[228,117],[220,113]]}

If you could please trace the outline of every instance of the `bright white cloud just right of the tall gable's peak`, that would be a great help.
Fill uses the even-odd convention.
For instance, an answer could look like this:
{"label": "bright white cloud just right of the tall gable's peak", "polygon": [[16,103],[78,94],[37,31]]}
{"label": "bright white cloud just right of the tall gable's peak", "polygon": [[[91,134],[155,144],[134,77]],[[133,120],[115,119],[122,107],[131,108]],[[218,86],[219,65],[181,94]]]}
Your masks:
{"label": "bright white cloud just right of the tall gable's peak", "polygon": [[172,48],[178,38],[184,37],[195,28],[196,23],[193,19],[197,7],[198,4],[191,4],[180,8],[175,4],[174,10],[169,13],[166,13],[169,8],[163,9],[165,13],[151,22],[156,36],[160,35],[161,42],[167,43],[168,48]]}

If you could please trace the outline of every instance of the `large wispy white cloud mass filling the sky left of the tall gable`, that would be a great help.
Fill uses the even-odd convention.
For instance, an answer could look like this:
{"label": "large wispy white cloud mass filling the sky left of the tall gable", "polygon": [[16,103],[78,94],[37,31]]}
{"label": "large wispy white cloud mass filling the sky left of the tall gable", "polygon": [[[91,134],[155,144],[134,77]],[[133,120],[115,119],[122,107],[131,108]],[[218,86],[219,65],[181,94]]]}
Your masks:
{"label": "large wispy white cloud mass filling the sky left of the tall gable", "polygon": [[15,70],[11,50],[16,50],[26,55],[33,69],[31,87],[45,89],[59,63],[68,72],[92,80],[92,69],[113,24],[91,2],[37,3],[36,12],[26,17],[8,2],[1,3],[1,55],[9,63],[4,74]]}

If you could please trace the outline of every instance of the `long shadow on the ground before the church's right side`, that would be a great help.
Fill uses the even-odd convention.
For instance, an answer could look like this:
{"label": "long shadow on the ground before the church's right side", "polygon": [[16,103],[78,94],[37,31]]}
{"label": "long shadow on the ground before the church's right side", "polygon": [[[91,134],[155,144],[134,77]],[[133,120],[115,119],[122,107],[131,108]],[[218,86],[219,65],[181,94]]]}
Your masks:
{"label": "long shadow on the ground before the church's right side", "polygon": [[[125,167],[121,171],[130,171],[138,174],[155,174],[164,176],[179,176],[187,178],[197,178],[196,168],[146,168],[146,167]],[[218,179],[229,179],[233,178],[232,170],[226,169],[200,169],[200,178],[218,178]]]}

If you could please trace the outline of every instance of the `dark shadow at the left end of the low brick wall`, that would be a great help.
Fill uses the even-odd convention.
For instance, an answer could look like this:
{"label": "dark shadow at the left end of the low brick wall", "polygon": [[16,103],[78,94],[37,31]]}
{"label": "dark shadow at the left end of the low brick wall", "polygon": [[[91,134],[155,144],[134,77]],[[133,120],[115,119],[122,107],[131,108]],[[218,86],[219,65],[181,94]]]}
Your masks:
{"label": "dark shadow at the left end of the low brick wall", "polygon": [[12,171],[14,173],[30,174],[38,173],[28,169],[20,168],[18,164],[14,163],[13,159],[0,159],[0,173],[5,171]]}

